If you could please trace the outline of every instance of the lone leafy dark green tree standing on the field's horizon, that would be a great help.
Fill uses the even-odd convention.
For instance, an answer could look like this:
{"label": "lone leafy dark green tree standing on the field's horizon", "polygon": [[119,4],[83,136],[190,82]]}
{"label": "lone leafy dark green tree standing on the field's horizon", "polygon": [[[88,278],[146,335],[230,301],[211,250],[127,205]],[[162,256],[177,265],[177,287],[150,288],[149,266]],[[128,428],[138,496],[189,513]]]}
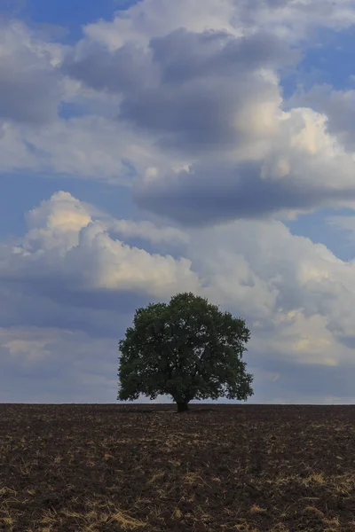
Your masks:
{"label": "lone leafy dark green tree standing on the field's horizon", "polygon": [[138,309],[119,342],[117,399],[172,395],[178,412],[187,411],[192,399],[246,401],[254,394],[253,376],[241,361],[249,338],[244,320],[193,293]]}

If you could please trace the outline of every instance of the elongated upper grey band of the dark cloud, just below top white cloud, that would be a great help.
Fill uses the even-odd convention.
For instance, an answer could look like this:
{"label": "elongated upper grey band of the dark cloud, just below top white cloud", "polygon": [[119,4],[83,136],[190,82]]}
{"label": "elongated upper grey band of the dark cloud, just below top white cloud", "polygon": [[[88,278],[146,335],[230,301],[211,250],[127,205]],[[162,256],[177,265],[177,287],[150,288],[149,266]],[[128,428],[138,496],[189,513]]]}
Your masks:
{"label": "elongated upper grey band of the dark cloud, just below top white cloud", "polygon": [[235,79],[260,66],[285,67],[298,59],[299,51],[266,31],[236,38],[222,31],[194,33],[181,27],[152,38],[147,51],[133,43],[116,51],[97,43],[80,43],[67,53],[61,69],[93,89],[122,92],[129,100],[131,91],[144,97],[146,90],[158,92],[171,83],[201,77]]}

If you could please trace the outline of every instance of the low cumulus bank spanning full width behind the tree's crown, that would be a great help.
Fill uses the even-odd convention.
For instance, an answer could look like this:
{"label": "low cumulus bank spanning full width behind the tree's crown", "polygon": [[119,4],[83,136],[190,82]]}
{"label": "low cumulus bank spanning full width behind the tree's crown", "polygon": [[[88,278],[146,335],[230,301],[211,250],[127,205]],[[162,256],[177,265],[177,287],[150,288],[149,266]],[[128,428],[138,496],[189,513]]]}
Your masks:
{"label": "low cumulus bank spanning full width behind the tree's crown", "polygon": [[[299,369],[304,366],[325,379],[328,368],[338,368],[339,379],[344,364],[351,368],[354,265],[337,259],[326,246],[292,235],[278,221],[240,220],[188,231],[189,238],[180,239],[186,259],[178,260],[114,240],[107,229],[113,220],[94,219],[93,211],[58,192],[28,213],[28,231],[15,246],[2,246],[0,356],[9,372],[15,364],[23,372],[41,364],[54,382],[61,364],[68,396],[79,397],[70,388],[69,369],[63,373],[67,365],[72,375],[82,375],[82,393],[89,397],[99,372],[97,353],[106,349],[107,372],[101,368],[94,390],[99,396],[116,364],[116,340],[130,325],[134,309],[180,290],[200,293],[246,318],[252,332],[246,359],[260,389],[275,386],[274,394],[281,396],[290,386],[290,372],[304,372]],[[147,241],[149,231],[153,240],[162,241],[173,229],[115,223],[126,237],[139,234]],[[71,354],[65,364],[60,353]],[[302,394],[310,393],[307,386],[304,381],[292,384]],[[31,397],[45,401],[49,393],[34,389]]]}

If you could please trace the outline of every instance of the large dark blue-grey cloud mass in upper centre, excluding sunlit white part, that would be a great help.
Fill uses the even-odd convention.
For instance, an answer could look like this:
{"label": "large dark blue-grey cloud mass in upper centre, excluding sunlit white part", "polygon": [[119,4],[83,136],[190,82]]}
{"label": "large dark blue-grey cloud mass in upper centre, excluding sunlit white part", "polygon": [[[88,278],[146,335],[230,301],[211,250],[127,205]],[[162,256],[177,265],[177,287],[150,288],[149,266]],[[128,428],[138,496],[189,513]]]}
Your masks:
{"label": "large dark blue-grey cloud mass in upper centre, excluding sunlit white part", "polygon": [[240,140],[238,113],[277,100],[278,88],[257,70],[296,62],[298,53],[266,32],[236,38],[180,28],[114,52],[88,44],[67,55],[63,71],[94,89],[122,93],[119,117],[154,133],[162,147],[183,153],[231,149]]}

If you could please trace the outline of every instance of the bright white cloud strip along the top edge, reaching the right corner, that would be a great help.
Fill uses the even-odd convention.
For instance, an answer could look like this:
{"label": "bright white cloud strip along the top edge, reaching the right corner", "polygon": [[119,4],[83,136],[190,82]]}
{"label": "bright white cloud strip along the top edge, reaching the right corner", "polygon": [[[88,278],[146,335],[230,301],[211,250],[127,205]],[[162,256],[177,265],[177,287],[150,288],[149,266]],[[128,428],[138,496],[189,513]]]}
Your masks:
{"label": "bright white cloud strip along the top edge, reaching the right corner", "polygon": [[[203,15],[201,9],[203,6]],[[178,27],[203,32],[211,28],[245,35],[267,28],[273,35],[297,42],[315,27],[335,30],[355,22],[353,0],[145,0],[111,22],[99,20],[84,27],[93,41],[116,50],[127,41],[146,45]]]}

